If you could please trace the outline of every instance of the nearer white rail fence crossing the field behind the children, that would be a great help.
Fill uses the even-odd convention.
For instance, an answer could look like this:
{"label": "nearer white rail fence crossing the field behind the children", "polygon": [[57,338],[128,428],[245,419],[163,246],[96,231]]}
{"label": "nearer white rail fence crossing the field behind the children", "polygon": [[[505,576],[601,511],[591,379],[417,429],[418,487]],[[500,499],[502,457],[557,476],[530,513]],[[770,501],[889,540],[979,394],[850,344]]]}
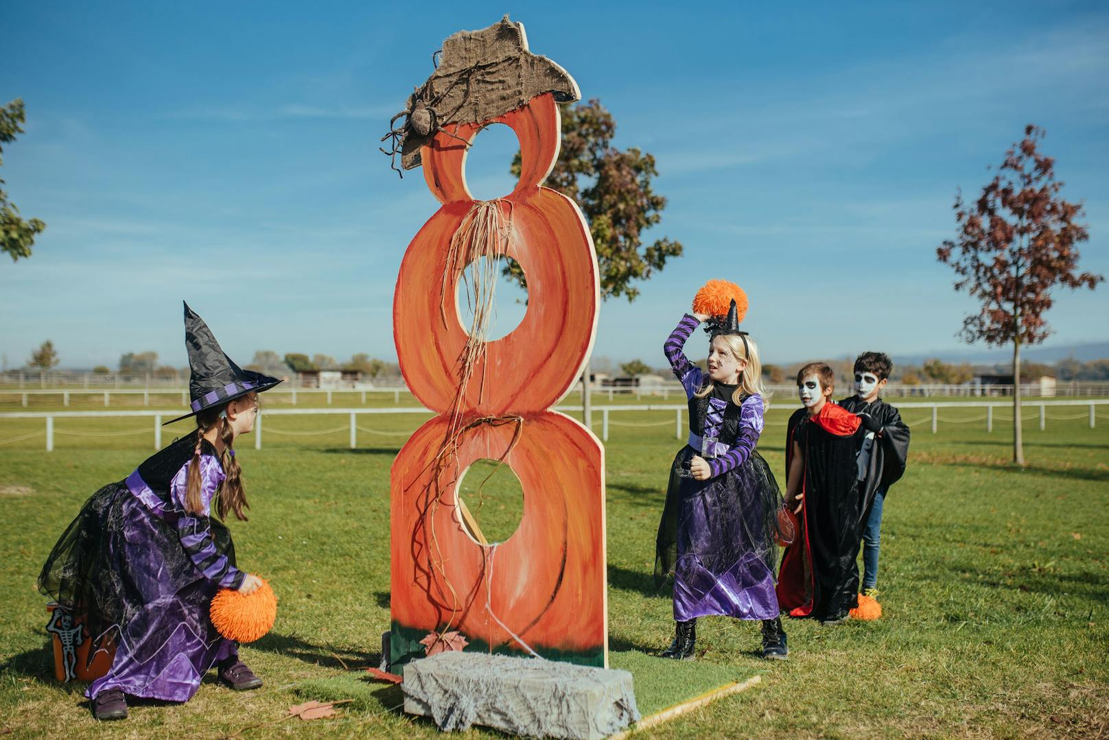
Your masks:
{"label": "nearer white rail fence crossing the field behind the children", "polygon": [[[1037,409],[1039,412],[1039,428],[1040,430],[1047,426],[1047,409],[1057,407],[1070,407],[1074,409],[1086,408],[1088,411],[1079,413],[1072,417],[1065,418],[1052,418],[1056,421],[1072,421],[1076,419],[1088,418],[1090,429],[1093,429],[1097,424],[1097,419],[1100,414],[1097,413],[1099,407],[1109,405],[1109,400],[1096,400],[1096,401],[1024,401],[1021,409]],[[686,411],[685,404],[643,404],[643,405],[602,405],[594,407],[594,412],[600,412],[601,414],[601,439],[608,441],[609,439],[609,426],[669,426],[670,421],[663,422],[617,422],[612,421],[611,414],[624,413],[624,412],[644,412],[644,411],[672,411],[674,413],[674,436],[675,439],[683,440],[688,434],[688,428],[682,423],[683,414]],[[930,409],[930,422],[932,422],[932,433],[935,434],[939,429],[939,422],[944,423],[971,423],[978,421],[986,421],[986,431],[994,431],[994,410],[995,409],[1010,409],[1013,404],[1005,401],[973,401],[966,403],[959,402],[934,402],[934,403],[898,403],[897,408],[899,410],[905,409]],[[984,409],[985,413],[981,417],[974,417],[970,419],[940,419],[940,409]],[[576,407],[558,407],[557,411],[570,412],[578,411]],[[326,430],[314,430],[311,432],[277,432],[288,435],[318,435],[318,434],[334,434],[340,431],[349,429],[349,444],[350,449],[354,450],[358,444],[358,431],[368,432],[379,435],[388,436],[409,436],[410,432],[381,432],[379,430],[369,430],[358,426],[359,415],[375,415],[375,414],[429,414],[429,410],[421,407],[401,407],[401,408],[380,408],[380,409],[268,409],[266,410],[257,420],[254,428],[254,448],[256,450],[262,449],[262,439],[264,434],[265,424],[263,420],[268,417],[289,417],[289,415],[347,415],[348,420],[346,423],[334,429]],[[18,442],[22,440],[33,439],[40,435],[45,436],[47,451],[51,452],[54,449],[54,435],[58,433],[69,433],[73,435],[81,435],[79,432],[61,432],[55,430],[54,420],[55,419],[104,419],[104,418],[115,418],[115,419],[135,419],[144,418],[151,419],[153,421],[153,434],[154,434],[154,449],[159,450],[162,446],[162,420],[171,419],[181,415],[180,411],[6,411],[0,412],[0,419],[42,419],[45,423],[45,429],[41,432],[34,432],[31,434],[23,434],[20,436],[13,436],[9,439],[0,439],[0,445]],[[1101,417],[1107,419],[1109,417]],[[917,420],[909,423],[910,426],[922,424],[929,421],[928,418]],[[767,422],[771,425],[783,425],[786,422]],[[592,424],[590,424],[592,425]],[[89,436],[121,436],[126,434],[141,433],[139,431],[126,431],[126,432],[102,432],[102,433],[87,433]]]}

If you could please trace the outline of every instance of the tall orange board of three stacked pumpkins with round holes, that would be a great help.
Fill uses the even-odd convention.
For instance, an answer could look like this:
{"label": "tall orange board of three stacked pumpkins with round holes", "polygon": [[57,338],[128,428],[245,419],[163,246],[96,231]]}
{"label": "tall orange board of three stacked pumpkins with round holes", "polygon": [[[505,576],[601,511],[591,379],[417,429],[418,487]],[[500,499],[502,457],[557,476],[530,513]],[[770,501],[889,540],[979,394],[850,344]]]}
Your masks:
{"label": "tall orange board of three stacked pumpkins with round holes", "polygon": [[[466,153],[492,123],[516,132],[522,175],[510,194],[479,202],[466,185]],[[558,106],[545,93],[444,129],[420,151],[442,205],[405,253],[393,307],[405,381],[437,415],[391,470],[391,670],[448,635],[447,649],[607,668],[603,448],[551,410],[581,374],[600,304],[586,220],[541,186],[558,156]],[[456,286],[477,249],[516,259],[527,277],[525,317],[496,341],[480,341],[458,312]],[[523,490],[520,524],[502,543],[475,539],[458,497],[481,459],[508,465]]]}

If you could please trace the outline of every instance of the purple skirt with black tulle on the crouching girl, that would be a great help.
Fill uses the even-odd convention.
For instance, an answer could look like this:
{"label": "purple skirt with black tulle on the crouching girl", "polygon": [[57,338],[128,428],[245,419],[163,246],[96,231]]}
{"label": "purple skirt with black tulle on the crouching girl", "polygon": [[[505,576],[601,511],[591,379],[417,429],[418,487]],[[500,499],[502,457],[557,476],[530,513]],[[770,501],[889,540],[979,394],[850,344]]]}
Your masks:
{"label": "purple skirt with black tulle on the crouching girl", "polygon": [[[212,520],[216,549],[234,563],[227,528]],[[82,615],[93,641],[115,659],[89,696],[108,688],[169,701],[189,699],[214,661],[234,655],[208,618],[217,586],[189,558],[176,528],[124,482],[94,493],[54,545],[39,590]]]}

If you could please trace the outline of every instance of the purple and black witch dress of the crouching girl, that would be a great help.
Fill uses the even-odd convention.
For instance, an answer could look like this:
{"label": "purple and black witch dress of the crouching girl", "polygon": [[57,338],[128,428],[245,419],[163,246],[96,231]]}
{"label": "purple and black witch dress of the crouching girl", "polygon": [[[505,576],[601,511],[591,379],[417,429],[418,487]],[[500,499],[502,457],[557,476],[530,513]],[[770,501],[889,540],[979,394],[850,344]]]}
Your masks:
{"label": "purple and black witch dress of the crouching girl", "polygon": [[[115,643],[108,675],[85,696],[121,689],[135,697],[186,701],[215,662],[237,652],[208,617],[221,587],[238,588],[227,528],[210,506],[224,472],[201,448],[203,513],[185,513],[185,481],[196,433],[143,462],[126,480],[85,502],[39,576],[39,590],[85,615],[93,648]],[[90,660],[94,650],[90,650]]]}

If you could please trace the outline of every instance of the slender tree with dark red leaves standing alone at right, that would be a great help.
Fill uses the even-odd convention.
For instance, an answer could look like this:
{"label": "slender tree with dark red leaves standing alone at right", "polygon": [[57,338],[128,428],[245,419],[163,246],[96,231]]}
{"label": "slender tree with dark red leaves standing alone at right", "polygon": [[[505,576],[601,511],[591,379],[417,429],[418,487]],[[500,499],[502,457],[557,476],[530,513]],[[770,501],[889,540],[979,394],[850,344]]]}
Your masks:
{"label": "slender tree with dark red leaves standing alone at right", "polygon": [[967,342],[1013,345],[1013,462],[1025,464],[1020,435],[1020,347],[1038,345],[1051,329],[1044,314],[1056,287],[1093,289],[1105,278],[1078,273],[1076,245],[1089,233],[1082,205],[1065,201],[1055,179],[1055,160],[1037,145],[1039,126],[1025,127],[1025,138],[1005,153],[997,175],[975,203],[955,196],[958,236],[936,249],[952,266],[965,290],[981,301],[981,310],[963,321]]}

